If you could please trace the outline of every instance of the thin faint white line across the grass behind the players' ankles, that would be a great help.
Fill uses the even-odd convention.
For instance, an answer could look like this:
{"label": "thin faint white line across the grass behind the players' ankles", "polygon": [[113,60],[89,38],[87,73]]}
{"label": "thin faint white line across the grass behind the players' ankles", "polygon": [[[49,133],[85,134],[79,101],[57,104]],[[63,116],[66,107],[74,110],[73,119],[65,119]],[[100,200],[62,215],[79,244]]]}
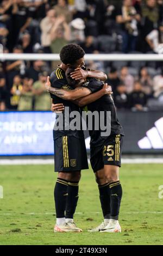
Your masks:
{"label": "thin faint white line across the grass behind the players' ankles", "polygon": [[[0,216],[13,216],[13,215],[54,215],[55,212],[4,212],[0,213]],[[85,215],[84,212],[76,212],[78,215]],[[86,212],[87,214],[102,214],[102,212]],[[123,212],[123,214],[163,214],[163,211],[131,211],[131,212]]]}

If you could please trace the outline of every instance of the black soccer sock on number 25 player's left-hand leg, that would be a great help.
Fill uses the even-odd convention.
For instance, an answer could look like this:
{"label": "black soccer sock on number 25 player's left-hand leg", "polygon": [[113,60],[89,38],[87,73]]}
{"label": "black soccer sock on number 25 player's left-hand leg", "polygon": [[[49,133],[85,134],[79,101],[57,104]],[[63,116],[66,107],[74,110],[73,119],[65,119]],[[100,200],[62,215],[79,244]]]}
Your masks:
{"label": "black soccer sock on number 25 player's left-hand leg", "polygon": [[103,211],[104,219],[110,218],[110,187],[109,183],[104,185],[98,185],[99,199],[101,202],[101,208]]}

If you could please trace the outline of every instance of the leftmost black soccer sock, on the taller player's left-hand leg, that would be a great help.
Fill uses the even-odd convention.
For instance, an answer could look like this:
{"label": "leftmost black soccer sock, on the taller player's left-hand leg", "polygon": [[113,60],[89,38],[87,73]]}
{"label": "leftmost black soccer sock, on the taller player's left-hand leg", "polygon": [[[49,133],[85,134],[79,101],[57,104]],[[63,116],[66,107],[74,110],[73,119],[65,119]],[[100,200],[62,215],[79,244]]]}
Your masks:
{"label": "leftmost black soccer sock, on the taller player's left-hand leg", "polygon": [[55,212],[57,218],[65,217],[68,181],[57,178],[54,187]]}

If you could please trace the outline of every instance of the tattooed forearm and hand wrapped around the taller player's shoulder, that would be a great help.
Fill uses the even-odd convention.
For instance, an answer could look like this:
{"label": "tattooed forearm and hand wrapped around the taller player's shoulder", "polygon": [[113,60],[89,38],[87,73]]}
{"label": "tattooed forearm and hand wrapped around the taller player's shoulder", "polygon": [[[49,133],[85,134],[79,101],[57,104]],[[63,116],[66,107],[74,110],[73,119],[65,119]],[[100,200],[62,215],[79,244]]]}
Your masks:
{"label": "tattooed forearm and hand wrapped around the taller player's shoulder", "polygon": [[63,100],[77,100],[80,97],[87,96],[91,93],[91,90],[84,87],[78,87],[74,90],[58,89],[51,87],[51,82],[49,81],[49,76],[47,77],[47,82],[45,84],[47,92],[60,97]]}

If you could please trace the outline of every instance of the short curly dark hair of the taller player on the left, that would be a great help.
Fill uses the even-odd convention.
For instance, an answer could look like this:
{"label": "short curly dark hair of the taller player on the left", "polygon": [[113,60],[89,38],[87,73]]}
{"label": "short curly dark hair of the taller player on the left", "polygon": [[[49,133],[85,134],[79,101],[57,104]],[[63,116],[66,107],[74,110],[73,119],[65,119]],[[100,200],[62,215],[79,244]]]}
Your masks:
{"label": "short curly dark hair of the taller player on the left", "polygon": [[60,59],[65,65],[74,65],[78,59],[83,58],[85,51],[82,47],[76,44],[68,44],[61,49]]}

